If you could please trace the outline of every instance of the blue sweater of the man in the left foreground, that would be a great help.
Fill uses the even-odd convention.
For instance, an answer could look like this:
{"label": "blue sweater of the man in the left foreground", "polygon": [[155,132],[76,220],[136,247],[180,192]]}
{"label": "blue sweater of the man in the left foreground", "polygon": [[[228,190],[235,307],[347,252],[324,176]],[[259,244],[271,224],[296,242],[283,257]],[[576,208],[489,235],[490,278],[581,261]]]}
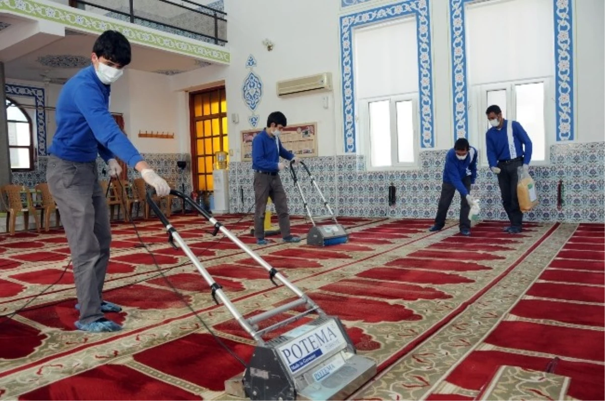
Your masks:
{"label": "blue sweater of the man in the left foreground", "polygon": [[83,68],[63,86],[55,118],[57,130],[50,154],[71,162],[105,162],[114,154],[130,167],[143,160],[109,111],[110,85],[103,84],[94,67]]}

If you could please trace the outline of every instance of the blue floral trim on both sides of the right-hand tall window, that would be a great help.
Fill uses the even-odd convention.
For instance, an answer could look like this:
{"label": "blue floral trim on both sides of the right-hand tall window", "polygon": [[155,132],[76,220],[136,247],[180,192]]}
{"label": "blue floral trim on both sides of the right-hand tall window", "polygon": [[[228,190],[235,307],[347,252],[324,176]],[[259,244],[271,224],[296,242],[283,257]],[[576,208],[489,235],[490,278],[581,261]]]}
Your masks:
{"label": "blue floral trim on both sides of the right-hand tall window", "polygon": [[[450,0],[454,141],[468,137],[465,4]],[[574,140],[574,53],[572,0],[553,0],[555,18],[555,79],[557,142]]]}

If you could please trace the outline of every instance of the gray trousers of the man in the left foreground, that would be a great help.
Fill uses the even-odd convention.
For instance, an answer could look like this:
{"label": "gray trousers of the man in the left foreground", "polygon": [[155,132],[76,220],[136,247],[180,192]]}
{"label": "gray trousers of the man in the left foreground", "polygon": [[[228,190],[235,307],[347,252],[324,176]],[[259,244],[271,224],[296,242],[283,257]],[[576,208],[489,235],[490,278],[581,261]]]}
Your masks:
{"label": "gray trousers of the man in the left foreground", "polygon": [[70,246],[80,323],[103,317],[103,283],[110,259],[111,227],[97,163],[50,156],[46,178]]}

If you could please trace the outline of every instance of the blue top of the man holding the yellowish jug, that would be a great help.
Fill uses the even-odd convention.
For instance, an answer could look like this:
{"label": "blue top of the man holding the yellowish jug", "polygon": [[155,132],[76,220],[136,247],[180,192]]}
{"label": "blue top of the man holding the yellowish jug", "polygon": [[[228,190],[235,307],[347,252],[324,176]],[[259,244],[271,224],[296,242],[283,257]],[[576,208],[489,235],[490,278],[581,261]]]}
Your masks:
{"label": "blue top of the man holding the yellowish jug", "polygon": [[[512,124],[512,136],[508,134],[508,124]],[[523,164],[531,161],[531,139],[517,121],[505,120],[502,128],[489,128],[485,133],[485,144],[489,167],[495,167],[499,161],[522,156]]]}

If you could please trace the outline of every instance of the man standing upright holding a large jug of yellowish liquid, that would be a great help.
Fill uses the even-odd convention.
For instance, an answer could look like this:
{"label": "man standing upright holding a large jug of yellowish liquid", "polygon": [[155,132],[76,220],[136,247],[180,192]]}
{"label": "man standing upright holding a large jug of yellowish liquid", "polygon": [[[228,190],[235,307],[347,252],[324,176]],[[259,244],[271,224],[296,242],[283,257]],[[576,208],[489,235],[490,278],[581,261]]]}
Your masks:
{"label": "man standing upright holding a large jug of yellowish liquid", "polygon": [[523,165],[525,171],[529,170],[531,139],[517,121],[504,119],[497,105],[489,106],[485,114],[491,125],[485,134],[489,168],[498,176],[502,205],[511,222],[505,231],[518,234],[522,231],[523,212],[517,197],[517,168]]}

